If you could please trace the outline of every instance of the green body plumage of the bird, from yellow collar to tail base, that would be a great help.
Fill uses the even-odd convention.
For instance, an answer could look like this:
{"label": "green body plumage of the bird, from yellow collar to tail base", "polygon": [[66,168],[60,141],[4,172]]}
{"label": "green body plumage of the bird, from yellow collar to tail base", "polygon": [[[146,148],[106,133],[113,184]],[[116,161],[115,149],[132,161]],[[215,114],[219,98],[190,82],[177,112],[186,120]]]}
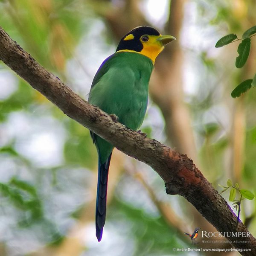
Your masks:
{"label": "green body plumage of the bird, from yellow collar to tail base", "polygon": [[[138,130],[148,105],[148,82],[153,70],[152,61],[135,52],[116,52],[99,67],[89,94],[89,102],[118,121]],[[100,161],[105,163],[113,146],[98,136],[94,142]]]}

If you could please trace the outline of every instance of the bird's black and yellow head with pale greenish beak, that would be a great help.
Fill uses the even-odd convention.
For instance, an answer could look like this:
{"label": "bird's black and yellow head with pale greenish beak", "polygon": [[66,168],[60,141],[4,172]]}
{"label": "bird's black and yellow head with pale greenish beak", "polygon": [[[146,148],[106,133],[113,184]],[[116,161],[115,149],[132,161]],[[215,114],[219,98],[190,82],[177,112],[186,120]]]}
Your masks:
{"label": "bird's black and yellow head with pale greenish beak", "polygon": [[137,52],[147,56],[154,63],[164,46],[173,40],[176,38],[172,35],[161,35],[150,26],[139,26],[121,39],[116,52]]}

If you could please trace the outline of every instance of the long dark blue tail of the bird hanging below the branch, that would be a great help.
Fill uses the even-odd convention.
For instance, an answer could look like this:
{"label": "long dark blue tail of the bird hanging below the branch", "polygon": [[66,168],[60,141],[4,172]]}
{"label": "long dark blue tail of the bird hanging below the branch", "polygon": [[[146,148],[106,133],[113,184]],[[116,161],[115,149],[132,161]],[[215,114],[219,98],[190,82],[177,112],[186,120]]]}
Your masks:
{"label": "long dark blue tail of the bird hanging below the branch", "polygon": [[108,160],[105,163],[101,164],[99,162],[96,199],[96,237],[98,241],[102,239],[103,227],[106,220],[108,169],[111,160],[111,155],[112,153],[110,154]]}

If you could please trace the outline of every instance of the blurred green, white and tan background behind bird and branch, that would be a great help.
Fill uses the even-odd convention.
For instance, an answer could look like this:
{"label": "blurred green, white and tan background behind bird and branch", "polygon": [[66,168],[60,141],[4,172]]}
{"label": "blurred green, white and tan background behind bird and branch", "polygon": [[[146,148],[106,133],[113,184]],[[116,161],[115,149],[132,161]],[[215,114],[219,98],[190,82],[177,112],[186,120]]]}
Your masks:
{"label": "blurred green, white and tan background behind bird and branch", "polygon": [[[0,0],[0,26],[84,99],[129,30],[150,25],[174,35],[156,60],[142,131],[187,154],[219,191],[230,178],[255,192],[256,91],[230,96],[254,76],[255,38],[241,70],[239,43],[215,48],[222,36],[241,38],[256,25],[255,13],[254,0]],[[98,243],[96,180],[89,131],[1,62],[0,256],[169,256],[192,247],[184,232],[215,230],[184,198],[166,195],[154,170],[115,150]],[[255,200],[241,208],[256,236]]]}

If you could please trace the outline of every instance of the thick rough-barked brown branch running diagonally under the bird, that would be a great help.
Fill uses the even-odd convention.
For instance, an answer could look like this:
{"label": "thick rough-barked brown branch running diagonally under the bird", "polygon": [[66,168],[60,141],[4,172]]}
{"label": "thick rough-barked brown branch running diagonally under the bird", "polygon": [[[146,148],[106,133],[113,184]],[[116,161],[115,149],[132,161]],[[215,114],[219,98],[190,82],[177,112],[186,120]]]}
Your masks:
{"label": "thick rough-barked brown branch running diagonally under the bird", "polygon": [[[120,123],[113,122],[108,114],[88,104],[56,76],[39,65],[1,27],[0,60],[67,116],[99,134],[125,154],[151,166],[166,183],[167,194],[182,195],[218,231],[248,232],[241,222],[237,225],[236,215],[227,202],[186,155],[156,140],[144,138],[143,135]],[[241,242],[228,239],[234,247],[251,249],[250,252],[242,252],[242,255],[256,255],[256,239],[253,236],[243,237]]]}

